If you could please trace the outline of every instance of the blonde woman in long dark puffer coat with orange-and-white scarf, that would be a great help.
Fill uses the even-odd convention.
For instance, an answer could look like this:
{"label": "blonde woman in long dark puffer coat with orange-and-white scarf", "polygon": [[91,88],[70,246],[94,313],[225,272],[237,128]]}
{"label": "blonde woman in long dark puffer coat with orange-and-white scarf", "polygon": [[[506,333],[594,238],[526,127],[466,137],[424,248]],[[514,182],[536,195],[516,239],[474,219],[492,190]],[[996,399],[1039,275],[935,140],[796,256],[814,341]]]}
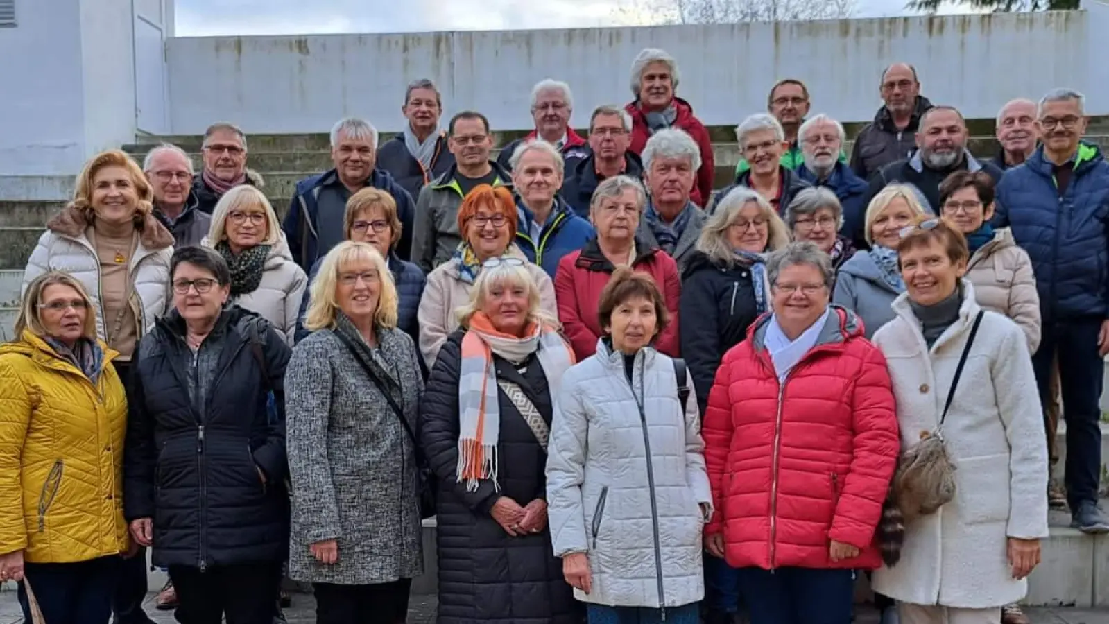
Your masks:
{"label": "blonde woman in long dark puffer coat with orange-and-white scarf", "polygon": [[517,257],[482,264],[459,323],[420,407],[438,484],[439,624],[579,624],[551,553],[543,472],[573,351]]}

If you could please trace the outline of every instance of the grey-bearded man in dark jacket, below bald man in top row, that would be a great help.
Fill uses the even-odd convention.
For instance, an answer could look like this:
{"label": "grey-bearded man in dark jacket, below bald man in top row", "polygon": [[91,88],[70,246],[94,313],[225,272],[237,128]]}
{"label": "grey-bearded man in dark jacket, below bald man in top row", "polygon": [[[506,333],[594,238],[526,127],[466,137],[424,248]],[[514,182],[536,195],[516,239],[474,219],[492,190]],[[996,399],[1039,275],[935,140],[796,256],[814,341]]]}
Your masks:
{"label": "grey-bearded man in dark jacket, below bald man in top row", "polygon": [[[967,150],[967,124],[954,106],[935,106],[920,116],[916,133],[916,152],[906,160],[882,167],[871,178],[866,204],[887,184],[912,184],[919,193],[924,209],[939,214],[939,183],[957,171],[984,171],[997,183],[1001,170],[979,161]],[[862,232],[856,233],[862,238]]]}

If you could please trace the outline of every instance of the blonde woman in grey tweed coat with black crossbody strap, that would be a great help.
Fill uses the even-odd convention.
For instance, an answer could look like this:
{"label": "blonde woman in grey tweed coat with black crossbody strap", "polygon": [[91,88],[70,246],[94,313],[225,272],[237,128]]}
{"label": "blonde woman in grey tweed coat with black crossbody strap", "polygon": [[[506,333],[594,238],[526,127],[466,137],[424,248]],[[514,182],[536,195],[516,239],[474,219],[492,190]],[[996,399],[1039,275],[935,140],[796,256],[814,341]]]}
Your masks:
{"label": "blonde woman in grey tweed coat with black crossbody strap", "polygon": [[312,283],[285,378],[293,483],[289,576],[312,583],[316,621],[399,624],[424,572],[416,345],[368,243],[332,248]]}

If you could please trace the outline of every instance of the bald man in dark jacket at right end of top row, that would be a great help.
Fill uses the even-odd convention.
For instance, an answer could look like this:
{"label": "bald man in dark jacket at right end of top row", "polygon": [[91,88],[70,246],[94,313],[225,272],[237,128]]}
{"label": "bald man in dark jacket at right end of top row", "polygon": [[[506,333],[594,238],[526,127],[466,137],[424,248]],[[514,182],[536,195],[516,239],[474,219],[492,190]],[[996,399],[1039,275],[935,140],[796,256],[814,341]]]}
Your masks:
{"label": "bald man in dark jacket at right end of top row", "polygon": [[920,95],[916,70],[907,63],[886,68],[878,92],[884,104],[874,121],[859,131],[851,151],[851,168],[863,180],[869,180],[889,163],[908,157],[916,147],[920,115],[932,108],[932,102]]}

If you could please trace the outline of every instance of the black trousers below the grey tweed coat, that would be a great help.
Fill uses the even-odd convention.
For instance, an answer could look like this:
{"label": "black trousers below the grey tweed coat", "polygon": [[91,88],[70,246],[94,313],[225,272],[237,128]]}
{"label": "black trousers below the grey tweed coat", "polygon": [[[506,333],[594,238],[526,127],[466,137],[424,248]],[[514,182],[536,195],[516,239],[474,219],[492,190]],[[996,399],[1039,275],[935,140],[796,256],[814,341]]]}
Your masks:
{"label": "black trousers below the grey tweed coat", "polygon": [[316,624],[404,624],[411,584],[411,579],[374,585],[313,583]]}

